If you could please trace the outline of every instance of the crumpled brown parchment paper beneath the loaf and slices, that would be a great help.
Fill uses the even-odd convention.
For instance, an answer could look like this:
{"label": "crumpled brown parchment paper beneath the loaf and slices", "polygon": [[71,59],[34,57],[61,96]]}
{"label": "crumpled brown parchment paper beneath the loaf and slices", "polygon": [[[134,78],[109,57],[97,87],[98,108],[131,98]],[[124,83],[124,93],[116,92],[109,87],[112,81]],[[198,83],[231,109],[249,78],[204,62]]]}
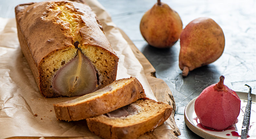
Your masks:
{"label": "crumpled brown parchment paper beneath the loaf and slices", "polygon": [[[99,2],[86,0],[86,3],[103,24],[104,32],[119,57],[117,79],[136,77],[142,83],[147,97],[157,100],[145,77],[142,65],[134,56],[130,44],[111,21],[110,15]],[[45,99],[41,95],[19,47],[15,19],[0,18],[0,138],[14,136],[99,138],[88,130],[85,120],[76,122],[56,120],[52,104],[71,99],[74,98]],[[156,130],[164,133],[169,129],[171,129],[169,124],[164,123]]]}

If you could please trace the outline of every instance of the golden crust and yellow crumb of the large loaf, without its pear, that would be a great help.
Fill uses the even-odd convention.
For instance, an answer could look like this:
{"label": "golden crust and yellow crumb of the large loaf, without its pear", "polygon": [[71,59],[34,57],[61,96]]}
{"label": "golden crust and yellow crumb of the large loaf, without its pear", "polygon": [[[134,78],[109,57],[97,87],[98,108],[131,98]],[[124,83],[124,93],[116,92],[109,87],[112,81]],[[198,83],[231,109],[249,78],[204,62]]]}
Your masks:
{"label": "golden crust and yellow crumb of the large loaf, without its pear", "polygon": [[63,63],[77,55],[77,50],[97,70],[98,89],[116,79],[118,57],[88,5],[45,1],[17,5],[15,12],[22,52],[44,97],[61,96],[53,91],[52,78]]}

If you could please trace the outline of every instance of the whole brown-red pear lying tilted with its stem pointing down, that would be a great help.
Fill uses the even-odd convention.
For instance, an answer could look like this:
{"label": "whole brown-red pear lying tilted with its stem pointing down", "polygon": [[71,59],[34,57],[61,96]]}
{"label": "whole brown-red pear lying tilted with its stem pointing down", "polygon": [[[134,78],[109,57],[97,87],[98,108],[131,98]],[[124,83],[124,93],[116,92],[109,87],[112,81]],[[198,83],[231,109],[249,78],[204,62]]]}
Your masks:
{"label": "whole brown-red pear lying tilted with its stem pointing down", "polygon": [[182,76],[217,60],[224,46],[223,31],[213,19],[200,17],[191,21],[180,34],[179,66]]}

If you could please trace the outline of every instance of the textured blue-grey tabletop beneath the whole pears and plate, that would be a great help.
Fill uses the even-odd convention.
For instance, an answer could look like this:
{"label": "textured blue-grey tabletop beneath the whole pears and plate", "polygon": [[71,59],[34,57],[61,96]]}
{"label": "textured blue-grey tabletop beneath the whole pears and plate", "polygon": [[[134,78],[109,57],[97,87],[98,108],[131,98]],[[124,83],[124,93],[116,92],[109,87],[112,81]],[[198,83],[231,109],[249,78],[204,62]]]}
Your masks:
{"label": "textured blue-grey tabletop beneath the whole pears and plate", "polygon": [[[0,0],[0,17],[14,18],[14,7],[33,0]],[[207,86],[225,76],[224,84],[234,91],[247,92],[248,84],[255,94],[256,57],[256,5],[255,0],[179,0],[168,1],[183,22],[183,28],[193,19],[207,16],[223,29],[225,49],[215,62],[191,71],[188,77],[181,76],[179,68],[180,42],[168,49],[148,46],[140,34],[139,24],[143,14],[157,0],[99,0],[110,13],[113,22],[134,42],[156,69],[157,78],[163,79],[173,93],[177,105],[175,121],[180,129],[180,138],[199,138],[184,122],[184,109]]]}

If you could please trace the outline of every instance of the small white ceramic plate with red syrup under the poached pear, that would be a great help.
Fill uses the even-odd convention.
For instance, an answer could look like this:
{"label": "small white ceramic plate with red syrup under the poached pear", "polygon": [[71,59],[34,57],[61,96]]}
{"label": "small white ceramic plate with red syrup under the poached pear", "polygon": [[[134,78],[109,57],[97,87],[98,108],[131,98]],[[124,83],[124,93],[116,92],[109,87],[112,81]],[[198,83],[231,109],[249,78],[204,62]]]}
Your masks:
{"label": "small white ceramic plate with red syrup under the poached pear", "polygon": [[[192,130],[195,134],[207,139],[238,139],[241,135],[241,128],[244,118],[244,111],[247,105],[247,92],[236,92],[241,100],[241,109],[238,116],[238,123],[234,125],[234,128],[230,128],[225,131],[213,131],[201,126],[199,119],[195,114],[194,105],[195,100],[194,98],[191,102],[189,102],[185,108],[184,112],[184,119],[186,125]],[[250,136],[248,139],[255,139],[256,138],[256,103],[255,103],[255,95],[251,94],[252,103],[251,103],[251,116],[250,116],[250,127],[248,135]]]}

